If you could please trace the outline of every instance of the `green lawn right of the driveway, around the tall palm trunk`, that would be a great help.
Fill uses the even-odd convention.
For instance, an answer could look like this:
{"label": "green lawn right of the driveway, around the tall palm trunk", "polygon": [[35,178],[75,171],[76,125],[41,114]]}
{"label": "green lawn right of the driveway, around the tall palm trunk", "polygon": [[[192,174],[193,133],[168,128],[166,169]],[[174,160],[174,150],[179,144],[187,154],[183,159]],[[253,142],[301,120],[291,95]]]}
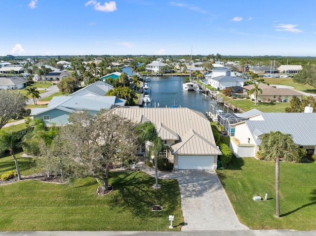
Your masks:
{"label": "green lawn right of the driveway, around the tall palm trunk", "polygon": [[[280,163],[280,215],[276,215],[275,163],[234,158],[217,174],[243,224],[251,229],[316,230],[316,163]],[[253,201],[260,194],[267,201]]]}

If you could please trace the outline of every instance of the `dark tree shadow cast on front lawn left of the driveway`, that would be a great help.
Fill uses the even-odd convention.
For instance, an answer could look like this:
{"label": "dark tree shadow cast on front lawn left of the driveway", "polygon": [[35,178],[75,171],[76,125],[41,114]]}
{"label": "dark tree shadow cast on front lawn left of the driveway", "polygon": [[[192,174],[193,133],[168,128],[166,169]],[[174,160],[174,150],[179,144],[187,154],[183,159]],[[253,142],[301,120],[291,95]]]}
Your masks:
{"label": "dark tree shadow cast on front lawn left of the driveway", "polygon": [[[148,216],[151,212],[151,205],[161,205],[163,212],[154,212],[153,217],[172,214],[178,210],[180,192],[176,180],[159,179],[162,187],[155,190],[152,188],[155,178],[141,171],[130,172],[125,177],[120,177],[119,172],[114,172],[112,176],[113,179],[110,179],[110,182],[112,182],[114,192],[109,195],[107,200],[112,207],[130,211],[135,216]],[[113,197],[114,195],[115,197]]]}

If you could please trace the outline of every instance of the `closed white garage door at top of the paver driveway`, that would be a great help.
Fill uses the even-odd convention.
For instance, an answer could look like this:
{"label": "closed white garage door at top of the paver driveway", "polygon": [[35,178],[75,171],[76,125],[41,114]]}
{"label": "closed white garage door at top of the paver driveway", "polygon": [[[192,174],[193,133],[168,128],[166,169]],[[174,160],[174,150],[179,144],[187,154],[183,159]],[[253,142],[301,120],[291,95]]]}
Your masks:
{"label": "closed white garage door at top of the paver driveway", "polygon": [[213,169],[213,156],[178,156],[178,169]]}

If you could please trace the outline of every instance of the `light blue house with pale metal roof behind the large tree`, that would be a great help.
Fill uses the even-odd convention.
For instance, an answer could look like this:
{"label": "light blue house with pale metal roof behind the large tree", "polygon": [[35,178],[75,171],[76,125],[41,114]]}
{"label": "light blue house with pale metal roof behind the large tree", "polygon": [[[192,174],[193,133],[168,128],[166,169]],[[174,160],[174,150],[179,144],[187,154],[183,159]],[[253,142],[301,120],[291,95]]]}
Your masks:
{"label": "light blue house with pale metal roof behind the large tree", "polygon": [[57,96],[52,98],[47,107],[34,108],[30,115],[43,119],[46,125],[65,125],[73,112],[87,110],[94,115],[101,109],[124,106],[125,102],[116,96]]}

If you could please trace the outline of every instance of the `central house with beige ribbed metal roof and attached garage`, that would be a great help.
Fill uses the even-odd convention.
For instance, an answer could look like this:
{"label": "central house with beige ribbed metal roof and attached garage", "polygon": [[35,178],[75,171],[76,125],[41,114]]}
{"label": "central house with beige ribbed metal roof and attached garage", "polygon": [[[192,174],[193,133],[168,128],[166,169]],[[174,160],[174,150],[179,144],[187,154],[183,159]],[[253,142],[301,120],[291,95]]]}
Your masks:
{"label": "central house with beige ribbed metal roof and attached garage", "polygon": [[113,111],[135,123],[150,121],[170,152],[164,153],[174,169],[216,169],[221,151],[209,121],[189,108],[118,107]]}

